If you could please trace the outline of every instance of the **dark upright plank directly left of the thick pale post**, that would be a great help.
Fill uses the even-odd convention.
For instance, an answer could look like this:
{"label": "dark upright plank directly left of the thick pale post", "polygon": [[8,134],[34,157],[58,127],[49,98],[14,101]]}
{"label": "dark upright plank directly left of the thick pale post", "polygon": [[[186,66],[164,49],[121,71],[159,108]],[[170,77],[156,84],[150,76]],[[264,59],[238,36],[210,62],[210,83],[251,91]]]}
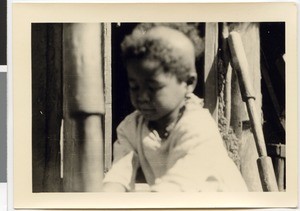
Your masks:
{"label": "dark upright plank directly left of the thick pale post", "polygon": [[44,191],[57,192],[60,184],[60,126],[62,121],[62,25],[47,27],[47,81],[46,81],[46,151]]}

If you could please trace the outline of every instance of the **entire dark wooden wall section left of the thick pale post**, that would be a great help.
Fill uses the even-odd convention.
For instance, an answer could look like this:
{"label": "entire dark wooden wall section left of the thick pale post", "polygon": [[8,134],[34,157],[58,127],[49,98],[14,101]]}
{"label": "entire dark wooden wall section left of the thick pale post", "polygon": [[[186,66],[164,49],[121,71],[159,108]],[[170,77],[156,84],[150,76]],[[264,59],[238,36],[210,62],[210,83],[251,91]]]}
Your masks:
{"label": "entire dark wooden wall section left of the thick pale post", "polygon": [[62,24],[32,26],[32,168],[33,192],[58,192]]}

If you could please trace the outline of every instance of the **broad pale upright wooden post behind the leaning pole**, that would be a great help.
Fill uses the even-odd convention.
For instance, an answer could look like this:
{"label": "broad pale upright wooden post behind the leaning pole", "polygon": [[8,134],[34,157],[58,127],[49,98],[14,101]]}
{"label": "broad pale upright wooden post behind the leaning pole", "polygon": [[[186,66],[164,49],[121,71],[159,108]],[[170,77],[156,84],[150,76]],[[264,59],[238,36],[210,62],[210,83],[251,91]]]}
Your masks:
{"label": "broad pale upright wooden post behind the leaning pole", "polygon": [[[227,28],[227,37],[230,32],[236,31],[240,33],[242,43],[245,49],[248,70],[256,98],[256,108],[261,118],[261,84],[260,84],[260,39],[258,23],[228,23],[224,24]],[[259,172],[257,168],[258,153],[256,150],[253,134],[251,133],[249,116],[246,111],[246,105],[242,100],[240,87],[237,80],[236,72],[232,73],[231,86],[231,120],[236,136],[240,140],[239,155],[241,160],[241,173],[247,183],[250,191],[262,191]]]}

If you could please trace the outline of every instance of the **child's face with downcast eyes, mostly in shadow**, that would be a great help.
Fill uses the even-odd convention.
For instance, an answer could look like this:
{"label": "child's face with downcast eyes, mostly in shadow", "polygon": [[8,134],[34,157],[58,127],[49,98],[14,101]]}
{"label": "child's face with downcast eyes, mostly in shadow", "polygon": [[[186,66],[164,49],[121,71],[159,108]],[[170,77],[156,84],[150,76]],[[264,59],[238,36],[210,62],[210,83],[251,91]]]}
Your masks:
{"label": "child's face with downcast eyes, mostly in shadow", "polygon": [[127,65],[130,98],[133,106],[149,121],[170,118],[183,105],[186,82],[163,72],[157,62],[132,61]]}

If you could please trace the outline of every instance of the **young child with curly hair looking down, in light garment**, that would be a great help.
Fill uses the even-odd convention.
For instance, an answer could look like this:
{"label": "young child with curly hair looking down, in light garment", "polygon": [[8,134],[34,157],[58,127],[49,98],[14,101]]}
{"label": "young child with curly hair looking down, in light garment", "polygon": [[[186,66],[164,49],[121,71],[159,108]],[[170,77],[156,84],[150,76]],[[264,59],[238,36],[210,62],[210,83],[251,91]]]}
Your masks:
{"label": "young child with curly hair looking down, in light garment", "polygon": [[134,191],[141,167],[151,191],[247,191],[218,128],[193,93],[195,50],[182,32],[155,26],[122,43],[136,111],[118,126],[103,191]]}

